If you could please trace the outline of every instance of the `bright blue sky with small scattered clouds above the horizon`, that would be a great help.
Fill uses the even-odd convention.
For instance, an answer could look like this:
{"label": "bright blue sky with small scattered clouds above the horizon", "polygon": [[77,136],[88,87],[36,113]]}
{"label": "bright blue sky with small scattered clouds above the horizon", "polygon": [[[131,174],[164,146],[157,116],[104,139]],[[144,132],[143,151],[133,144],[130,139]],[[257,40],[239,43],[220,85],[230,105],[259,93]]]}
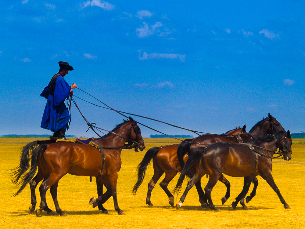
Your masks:
{"label": "bright blue sky with small scattered clouds above the horizon", "polygon": [[[13,0],[0,13],[0,135],[50,133],[40,128],[39,95],[58,61],[75,69],[65,76],[70,85],[120,111],[208,133],[249,131],[271,113],[286,130],[305,131],[304,1]],[[122,122],[76,101],[103,129]],[[72,107],[66,134],[95,136],[86,130]]]}

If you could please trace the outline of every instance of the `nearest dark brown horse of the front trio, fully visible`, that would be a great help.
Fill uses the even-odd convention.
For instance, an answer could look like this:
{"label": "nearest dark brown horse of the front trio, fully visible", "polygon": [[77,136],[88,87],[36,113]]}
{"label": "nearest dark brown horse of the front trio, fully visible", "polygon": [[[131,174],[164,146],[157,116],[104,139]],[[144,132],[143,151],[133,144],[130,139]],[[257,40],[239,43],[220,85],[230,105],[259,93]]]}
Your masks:
{"label": "nearest dark brown horse of the front trio, fully visible", "polygon": [[178,183],[174,191],[181,189],[185,175],[188,174],[193,164],[196,164],[196,173],[191,180],[177,203],[176,208],[179,209],[185,200],[188,191],[194,184],[201,179],[205,174],[209,175],[209,181],[204,188],[205,198],[207,199],[210,209],[220,211],[213,205],[211,199],[211,191],[222,173],[228,176],[244,177],[244,187],[242,192],[236,198],[236,202],[232,203],[235,209],[237,203],[241,201],[244,210],[248,210],[244,204],[244,198],[249,190],[253,176],[261,176],[278,194],[284,208],[290,209],[285,202],[278,187],[274,183],[271,175],[272,157],[277,148],[282,151],[285,160],[291,159],[292,139],[290,132],[280,131],[273,135],[268,135],[263,138],[253,140],[247,144],[229,144],[215,143],[207,147],[199,147],[189,155],[188,161],[181,172]]}

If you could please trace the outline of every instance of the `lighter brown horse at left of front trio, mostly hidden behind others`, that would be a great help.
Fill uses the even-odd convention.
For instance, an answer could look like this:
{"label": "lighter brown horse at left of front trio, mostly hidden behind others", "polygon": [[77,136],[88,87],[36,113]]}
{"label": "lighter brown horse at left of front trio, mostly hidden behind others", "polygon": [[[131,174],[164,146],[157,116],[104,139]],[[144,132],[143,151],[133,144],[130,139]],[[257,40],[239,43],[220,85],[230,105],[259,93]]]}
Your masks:
{"label": "lighter brown horse at left of front trio, mostly hidden behind others", "polygon": [[[240,126],[236,129],[230,130],[227,133],[224,133],[223,135],[231,136],[231,135],[239,135],[246,132],[246,125],[241,128]],[[214,135],[213,135],[214,136]],[[215,135],[217,136],[217,135]],[[185,141],[192,140],[187,139]],[[233,140],[233,137],[231,137],[231,140]],[[149,205],[149,207],[152,207],[153,204],[150,201],[150,196],[152,193],[152,189],[155,187],[155,184],[160,179],[160,177],[165,173],[164,179],[160,182],[160,186],[164,190],[164,192],[168,196],[168,203],[174,207],[174,196],[171,194],[171,192],[168,190],[167,186],[170,183],[171,180],[176,176],[178,172],[181,172],[181,167],[178,161],[177,157],[177,150],[178,150],[179,144],[174,145],[167,145],[167,146],[161,146],[161,147],[153,147],[149,149],[146,154],[144,155],[144,158],[142,162],[138,165],[138,181],[133,187],[132,192],[136,194],[138,188],[142,184],[146,170],[151,163],[153,162],[153,169],[154,174],[152,176],[152,179],[148,183],[148,191],[147,191],[147,197],[146,197],[146,204]],[[187,161],[187,154],[184,155],[184,162]],[[193,173],[196,172],[196,168],[194,167],[192,170]],[[230,183],[228,180],[222,176],[220,177],[220,181],[224,183],[227,187],[227,193],[225,195],[226,198],[229,198],[230,196]],[[206,203],[204,202],[204,192],[202,190],[202,187],[200,185],[200,180],[198,183],[195,184],[196,189],[199,194],[199,202],[202,204],[202,206],[206,206]]]}

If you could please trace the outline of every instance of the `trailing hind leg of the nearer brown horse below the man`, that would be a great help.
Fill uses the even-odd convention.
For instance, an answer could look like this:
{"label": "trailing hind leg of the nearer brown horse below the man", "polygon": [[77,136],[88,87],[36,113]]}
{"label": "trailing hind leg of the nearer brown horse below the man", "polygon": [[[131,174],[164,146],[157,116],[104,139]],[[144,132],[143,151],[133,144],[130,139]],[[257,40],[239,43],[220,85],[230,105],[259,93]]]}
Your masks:
{"label": "trailing hind leg of the nearer brown horse below the man", "polygon": [[[62,178],[63,176],[60,175],[53,175],[52,173],[50,174],[50,176],[41,183],[40,187],[39,187],[39,193],[40,193],[40,205],[39,205],[39,209],[35,210],[36,216],[39,216],[41,214],[41,212],[45,209],[45,207],[47,206],[46,204],[46,200],[45,200],[45,194],[47,192],[47,190],[54,184],[56,184],[56,182],[58,182],[58,180],[60,178]],[[56,187],[57,190],[57,187]],[[57,209],[56,209],[57,210]],[[66,213],[62,212],[60,214],[60,216],[66,216]]]}

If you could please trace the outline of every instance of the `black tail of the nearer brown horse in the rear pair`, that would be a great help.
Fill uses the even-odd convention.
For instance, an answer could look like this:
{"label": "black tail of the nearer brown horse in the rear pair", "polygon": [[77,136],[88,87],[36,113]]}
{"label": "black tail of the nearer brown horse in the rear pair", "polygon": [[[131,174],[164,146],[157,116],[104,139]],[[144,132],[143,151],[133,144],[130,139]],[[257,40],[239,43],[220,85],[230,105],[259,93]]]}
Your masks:
{"label": "black tail of the nearer brown horse in the rear pair", "polygon": [[38,155],[39,153],[44,152],[47,147],[47,145],[40,145],[35,148],[31,154],[31,162],[30,156],[24,156],[23,160],[20,159],[19,167],[17,167],[13,172],[13,176],[15,175],[15,177],[12,178],[12,181],[16,184],[16,186],[20,186],[20,188],[13,194],[13,196],[18,195],[25,188],[25,186],[27,186],[30,180],[33,179],[37,170]]}

